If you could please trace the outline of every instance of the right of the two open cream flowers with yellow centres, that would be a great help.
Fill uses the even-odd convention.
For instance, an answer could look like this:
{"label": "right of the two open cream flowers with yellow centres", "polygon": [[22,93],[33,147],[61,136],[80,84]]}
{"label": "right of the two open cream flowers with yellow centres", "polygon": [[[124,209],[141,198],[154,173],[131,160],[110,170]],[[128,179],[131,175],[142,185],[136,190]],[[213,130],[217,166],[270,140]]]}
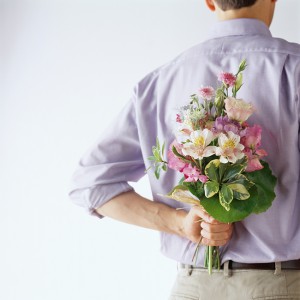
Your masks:
{"label": "right of the two open cream flowers with yellow centres", "polygon": [[235,163],[238,159],[244,157],[242,150],[244,146],[240,144],[240,136],[228,131],[227,135],[220,133],[218,138],[219,147],[216,149],[216,155],[220,156],[221,163]]}

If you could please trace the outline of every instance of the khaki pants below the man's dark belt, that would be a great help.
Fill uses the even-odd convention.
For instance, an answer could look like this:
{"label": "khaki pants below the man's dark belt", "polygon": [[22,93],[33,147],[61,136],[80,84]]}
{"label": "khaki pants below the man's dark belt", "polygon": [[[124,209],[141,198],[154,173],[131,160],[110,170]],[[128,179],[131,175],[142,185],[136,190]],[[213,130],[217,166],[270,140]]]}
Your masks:
{"label": "khaki pants below the man's dark belt", "polygon": [[300,300],[300,271],[274,271],[181,267],[169,300]]}

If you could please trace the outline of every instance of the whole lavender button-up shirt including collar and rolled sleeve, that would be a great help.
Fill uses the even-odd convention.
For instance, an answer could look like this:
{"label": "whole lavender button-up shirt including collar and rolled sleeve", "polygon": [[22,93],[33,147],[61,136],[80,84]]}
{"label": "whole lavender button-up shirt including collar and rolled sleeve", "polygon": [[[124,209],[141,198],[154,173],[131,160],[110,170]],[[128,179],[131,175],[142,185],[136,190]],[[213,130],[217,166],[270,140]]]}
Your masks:
{"label": "whole lavender button-up shirt including collar and rolled sleeve", "polygon": [[[249,123],[263,128],[262,147],[278,177],[277,197],[265,213],[234,225],[231,241],[221,249],[222,261],[272,262],[300,258],[299,100],[300,45],[273,38],[264,23],[235,19],[215,25],[209,38],[156,69],[135,87],[132,99],[110,131],[82,157],[73,176],[71,199],[91,213],[114,196],[129,191],[128,181],[144,176],[158,136],[174,139],[176,109],[201,84],[216,86],[216,74],[237,70],[245,58],[244,86],[239,97],[257,111]],[[154,201],[182,204],[158,194],[169,192],[181,178],[173,170],[149,180]],[[190,264],[195,244],[161,233],[161,251]],[[202,247],[199,265],[203,265]]]}

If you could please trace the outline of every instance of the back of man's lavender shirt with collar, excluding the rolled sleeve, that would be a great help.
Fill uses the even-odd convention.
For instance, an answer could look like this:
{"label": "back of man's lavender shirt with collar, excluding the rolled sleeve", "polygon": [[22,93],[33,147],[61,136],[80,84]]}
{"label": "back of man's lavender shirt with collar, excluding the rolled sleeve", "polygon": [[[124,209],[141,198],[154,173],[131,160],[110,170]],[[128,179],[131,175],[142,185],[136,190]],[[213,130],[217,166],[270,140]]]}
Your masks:
{"label": "back of man's lavender shirt with collar, excluding the rolled sleeve", "polygon": [[[223,249],[223,260],[250,263],[296,259],[300,245],[298,44],[272,38],[269,29],[258,20],[219,22],[208,40],[154,71],[137,86],[134,107],[141,157],[147,165],[150,145],[155,143],[156,136],[171,144],[176,108],[186,105],[201,84],[216,86],[215,74],[236,70],[242,59],[247,60],[248,67],[239,96],[256,107],[249,123],[263,128],[266,160],[278,177],[277,197],[265,214],[250,216],[235,225],[235,233]],[[177,176],[169,171],[159,182],[150,176],[155,200],[180,207],[172,200],[157,196],[170,191],[180,179]],[[270,231],[276,232],[276,240]],[[167,256],[191,262],[194,249],[191,242],[184,243],[180,237],[162,233],[162,244]],[[288,247],[291,250],[286,253]]]}

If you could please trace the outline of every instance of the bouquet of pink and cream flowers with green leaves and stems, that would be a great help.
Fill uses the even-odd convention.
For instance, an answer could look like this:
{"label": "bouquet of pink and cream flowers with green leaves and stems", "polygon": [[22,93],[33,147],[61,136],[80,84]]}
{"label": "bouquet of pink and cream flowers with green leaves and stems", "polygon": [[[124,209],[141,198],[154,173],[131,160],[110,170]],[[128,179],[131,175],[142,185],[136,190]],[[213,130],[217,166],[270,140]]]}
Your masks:
{"label": "bouquet of pink and cream flowers with green leaves and stems", "polygon": [[[221,84],[216,90],[206,86],[191,95],[176,115],[178,128],[168,161],[163,158],[165,144],[161,147],[158,139],[149,157],[157,178],[168,167],[183,175],[167,197],[201,205],[224,223],[264,212],[275,198],[276,177],[262,160],[267,155],[260,148],[262,129],[246,123],[254,107],[237,99],[246,67],[243,60],[236,74],[219,74]],[[218,247],[207,246],[204,261],[209,273],[219,268]]]}

